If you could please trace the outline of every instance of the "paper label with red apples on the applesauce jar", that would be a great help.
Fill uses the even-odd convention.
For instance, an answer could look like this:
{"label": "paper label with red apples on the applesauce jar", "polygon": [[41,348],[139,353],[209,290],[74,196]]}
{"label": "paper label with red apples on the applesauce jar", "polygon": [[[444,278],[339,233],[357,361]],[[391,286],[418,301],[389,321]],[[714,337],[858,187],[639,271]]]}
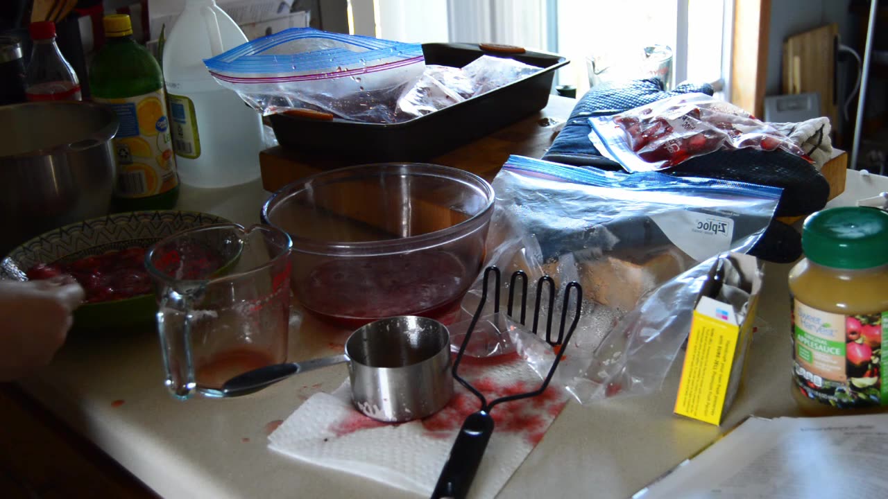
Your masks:
{"label": "paper label with red apples on the applesauce jar", "polygon": [[792,299],[793,379],[805,397],[836,408],[888,405],[882,372],[888,311],[844,315]]}

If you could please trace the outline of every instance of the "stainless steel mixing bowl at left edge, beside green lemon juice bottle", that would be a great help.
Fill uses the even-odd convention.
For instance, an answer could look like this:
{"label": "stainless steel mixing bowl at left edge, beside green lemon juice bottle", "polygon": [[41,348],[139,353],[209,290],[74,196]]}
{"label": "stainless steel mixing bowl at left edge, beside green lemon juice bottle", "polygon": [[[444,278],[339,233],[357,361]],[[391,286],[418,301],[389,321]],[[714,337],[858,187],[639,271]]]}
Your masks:
{"label": "stainless steel mixing bowl at left edge, beside green lemon juice bottle", "polygon": [[58,226],[107,214],[117,116],[88,102],[0,107],[0,255]]}

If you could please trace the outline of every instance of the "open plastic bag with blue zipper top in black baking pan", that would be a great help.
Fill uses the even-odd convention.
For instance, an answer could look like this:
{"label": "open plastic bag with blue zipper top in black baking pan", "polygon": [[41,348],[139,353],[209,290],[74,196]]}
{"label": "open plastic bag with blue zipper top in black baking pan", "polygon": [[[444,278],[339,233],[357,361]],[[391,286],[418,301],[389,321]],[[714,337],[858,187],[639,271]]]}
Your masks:
{"label": "open plastic bag with blue zipper top in black baking pan", "polygon": [[396,105],[423,75],[420,44],[290,28],[204,64],[263,115],[308,108],[361,122],[393,123]]}

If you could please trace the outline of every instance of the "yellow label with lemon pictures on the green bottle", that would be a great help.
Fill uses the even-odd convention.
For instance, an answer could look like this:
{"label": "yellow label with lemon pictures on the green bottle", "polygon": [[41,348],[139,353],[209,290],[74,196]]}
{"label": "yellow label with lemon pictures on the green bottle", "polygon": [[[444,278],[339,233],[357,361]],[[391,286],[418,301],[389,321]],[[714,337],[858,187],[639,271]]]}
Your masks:
{"label": "yellow label with lemon pictures on the green bottle", "polygon": [[137,97],[95,100],[114,109],[120,120],[114,139],[118,168],[115,195],[140,198],[163,194],[178,186],[163,90]]}

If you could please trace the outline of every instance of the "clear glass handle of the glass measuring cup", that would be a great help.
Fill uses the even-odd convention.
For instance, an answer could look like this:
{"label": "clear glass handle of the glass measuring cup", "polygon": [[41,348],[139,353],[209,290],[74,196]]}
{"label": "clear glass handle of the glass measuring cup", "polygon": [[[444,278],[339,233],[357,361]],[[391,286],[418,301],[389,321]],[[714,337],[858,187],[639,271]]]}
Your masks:
{"label": "clear glass handle of the glass measuring cup", "polygon": [[191,356],[190,300],[172,289],[165,289],[157,310],[157,333],[163,351],[163,368],[170,393],[185,400],[197,388]]}

